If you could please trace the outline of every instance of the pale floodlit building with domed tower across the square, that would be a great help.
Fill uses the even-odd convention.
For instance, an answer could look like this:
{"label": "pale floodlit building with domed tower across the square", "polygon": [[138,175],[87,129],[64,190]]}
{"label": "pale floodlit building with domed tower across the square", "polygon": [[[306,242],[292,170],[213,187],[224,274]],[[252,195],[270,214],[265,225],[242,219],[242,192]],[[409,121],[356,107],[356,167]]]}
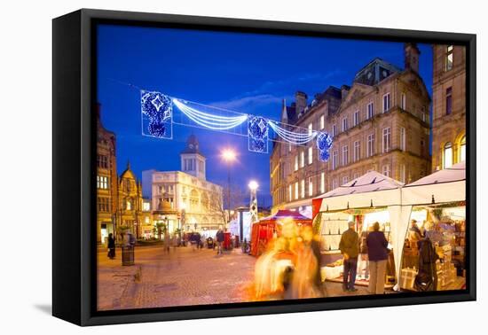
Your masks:
{"label": "pale floodlit building with domed tower across the square", "polygon": [[181,171],[143,172],[151,183],[153,222],[168,225],[169,232],[217,230],[224,225],[223,188],[206,180],[205,156],[190,136],[180,153]]}

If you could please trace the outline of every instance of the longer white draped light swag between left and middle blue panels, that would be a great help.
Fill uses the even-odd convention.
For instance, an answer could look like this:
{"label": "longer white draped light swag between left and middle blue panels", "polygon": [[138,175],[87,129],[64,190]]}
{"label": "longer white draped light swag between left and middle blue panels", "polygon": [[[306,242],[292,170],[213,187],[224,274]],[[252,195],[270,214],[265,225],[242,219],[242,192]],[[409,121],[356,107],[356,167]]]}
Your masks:
{"label": "longer white draped light swag between left and middle blue panels", "polygon": [[247,114],[240,114],[238,116],[220,116],[209,113],[203,113],[189,105],[185,104],[184,100],[173,98],[173,103],[177,108],[184,113],[190,120],[201,125],[202,127],[212,130],[228,130],[239,126],[244,121],[248,120]]}

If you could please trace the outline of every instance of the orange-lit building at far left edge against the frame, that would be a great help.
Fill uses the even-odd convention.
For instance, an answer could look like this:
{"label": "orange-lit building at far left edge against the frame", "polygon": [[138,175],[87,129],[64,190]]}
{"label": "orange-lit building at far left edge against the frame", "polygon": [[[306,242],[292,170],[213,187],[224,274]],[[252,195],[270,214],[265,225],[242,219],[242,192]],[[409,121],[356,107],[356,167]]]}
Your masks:
{"label": "orange-lit building at far left edge against the frame", "polygon": [[97,106],[97,242],[105,242],[115,232],[114,214],[118,205],[115,134],[104,128]]}

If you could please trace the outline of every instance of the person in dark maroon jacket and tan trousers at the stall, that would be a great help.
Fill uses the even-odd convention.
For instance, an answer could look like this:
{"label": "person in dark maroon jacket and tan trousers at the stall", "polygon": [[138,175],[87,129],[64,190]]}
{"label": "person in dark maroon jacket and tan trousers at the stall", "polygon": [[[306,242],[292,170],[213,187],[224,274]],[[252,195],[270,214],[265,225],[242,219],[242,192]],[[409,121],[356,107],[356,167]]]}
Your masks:
{"label": "person in dark maroon jacket and tan trousers at the stall", "polygon": [[380,231],[380,223],[374,222],[373,231],[367,234],[367,257],[369,259],[369,287],[371,294],[383,294],[386,262],[388,260],[388,241]]}

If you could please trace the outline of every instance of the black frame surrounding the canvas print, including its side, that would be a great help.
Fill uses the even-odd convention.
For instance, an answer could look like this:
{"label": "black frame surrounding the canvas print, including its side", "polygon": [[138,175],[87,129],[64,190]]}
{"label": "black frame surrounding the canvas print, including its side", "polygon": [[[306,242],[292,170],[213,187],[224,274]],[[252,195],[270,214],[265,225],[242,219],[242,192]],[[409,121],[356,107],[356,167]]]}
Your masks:
{"label": "black frame surrounding the canvas print, including its side", "polygon": [[[98,312],[95,213],[96,27],[114,23],[466,46],[467,289]],[[82,9],[52,21],[52,314],[79,325],[476,300],[476,35]]]}

